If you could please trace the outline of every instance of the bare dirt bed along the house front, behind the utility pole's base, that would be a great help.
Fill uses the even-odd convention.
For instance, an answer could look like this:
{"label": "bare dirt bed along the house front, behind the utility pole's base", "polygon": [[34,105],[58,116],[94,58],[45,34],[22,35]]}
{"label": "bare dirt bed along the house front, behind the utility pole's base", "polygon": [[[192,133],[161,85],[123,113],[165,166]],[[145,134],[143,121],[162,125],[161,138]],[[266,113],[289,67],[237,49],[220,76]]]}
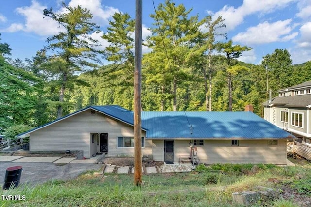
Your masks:
{"label": "bare dirt bed along the house front, behind the utility pole's base", "polygon": [[[134,157],[107,157],[103,159],[103,163],[117,165],[117,166],[131,166],[134,167]],[[154,167],[163,165],[163,162],[143,161],[146,167]]]}

